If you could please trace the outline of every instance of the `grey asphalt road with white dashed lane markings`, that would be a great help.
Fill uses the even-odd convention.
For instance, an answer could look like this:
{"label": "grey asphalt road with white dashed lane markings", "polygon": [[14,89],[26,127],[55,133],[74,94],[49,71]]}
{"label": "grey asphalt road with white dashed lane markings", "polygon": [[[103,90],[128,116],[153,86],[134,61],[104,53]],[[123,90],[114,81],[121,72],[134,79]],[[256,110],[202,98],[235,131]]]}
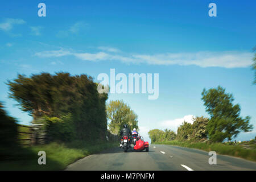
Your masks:
{"label": "grey asphalt road with white dashed lane markings", "polygon": [[232,156],[217,155],[217,164],[210,165],[205,151],[158,144],[149,147],[149,152],[130,149],[127,153],[112,148],[77,160],[66,170],[256,170],[255,162]]}

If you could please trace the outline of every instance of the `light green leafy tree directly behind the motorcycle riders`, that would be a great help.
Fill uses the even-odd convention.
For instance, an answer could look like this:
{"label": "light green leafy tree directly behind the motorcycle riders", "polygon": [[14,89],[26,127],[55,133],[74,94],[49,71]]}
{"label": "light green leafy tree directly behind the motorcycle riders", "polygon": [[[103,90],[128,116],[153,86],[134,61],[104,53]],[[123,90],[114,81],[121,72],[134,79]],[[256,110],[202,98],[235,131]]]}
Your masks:
{"label": "light green leafy tree directly behind the motorcycle riders", "polygon": [[106,111],[110,121],[109,130],[113,134],[119,134],[119,131],[125,124],[127,124],[131,130],[134,127],[138,130],[137,114],[122,100],[110,101],[106,106]]}

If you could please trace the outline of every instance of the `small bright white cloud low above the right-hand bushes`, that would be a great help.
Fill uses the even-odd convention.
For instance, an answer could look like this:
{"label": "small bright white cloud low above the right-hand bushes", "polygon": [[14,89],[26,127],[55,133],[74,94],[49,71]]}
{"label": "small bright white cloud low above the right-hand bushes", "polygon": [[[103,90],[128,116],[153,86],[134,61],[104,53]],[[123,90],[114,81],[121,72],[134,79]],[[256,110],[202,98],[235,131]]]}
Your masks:
{"label": "small bright white cloud low above the right-hand bushes", "polygon": [[193,118],[195,118],[194,115],[185,115],[183,118],[177,118],[173,120],[167,120],[160,122],[160,126],[163,129],[171,129],[173,131],[177,131],[177,128],[184,122],[193,123]]}

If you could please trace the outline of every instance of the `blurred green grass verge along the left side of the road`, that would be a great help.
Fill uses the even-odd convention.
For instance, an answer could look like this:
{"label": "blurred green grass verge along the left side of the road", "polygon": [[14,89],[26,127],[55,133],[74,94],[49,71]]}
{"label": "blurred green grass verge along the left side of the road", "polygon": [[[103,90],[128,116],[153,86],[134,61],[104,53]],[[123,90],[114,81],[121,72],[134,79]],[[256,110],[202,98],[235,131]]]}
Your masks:
{"label": "blurred green grass verge along the left side of the road", "polygon": [[[72,143],[53,142],[41,146],[22,147],[13,150],[10,160],[0,161],[0,170],[63,170],[69,164],[90,154],[118,146],[117,142],[96,144],[75,141]],[[46,152],[46,165],[38,164],[38,152]]]}

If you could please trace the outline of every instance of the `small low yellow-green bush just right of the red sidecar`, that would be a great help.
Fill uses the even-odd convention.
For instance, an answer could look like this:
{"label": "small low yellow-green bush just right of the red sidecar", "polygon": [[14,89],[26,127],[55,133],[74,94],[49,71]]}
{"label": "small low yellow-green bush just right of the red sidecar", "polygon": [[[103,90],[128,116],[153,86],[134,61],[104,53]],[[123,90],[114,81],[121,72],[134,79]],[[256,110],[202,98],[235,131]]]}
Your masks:
{"label": "small low yellow-green bush just right of the red sidecar", "polygon": [[148,135],[151,139],[151,142],[163,142],[163,141],[170,141],[174,140],[176,138],[176,134],[174,131],[167,130],[159,130],[159,129],[154,129],[148,131]]}

